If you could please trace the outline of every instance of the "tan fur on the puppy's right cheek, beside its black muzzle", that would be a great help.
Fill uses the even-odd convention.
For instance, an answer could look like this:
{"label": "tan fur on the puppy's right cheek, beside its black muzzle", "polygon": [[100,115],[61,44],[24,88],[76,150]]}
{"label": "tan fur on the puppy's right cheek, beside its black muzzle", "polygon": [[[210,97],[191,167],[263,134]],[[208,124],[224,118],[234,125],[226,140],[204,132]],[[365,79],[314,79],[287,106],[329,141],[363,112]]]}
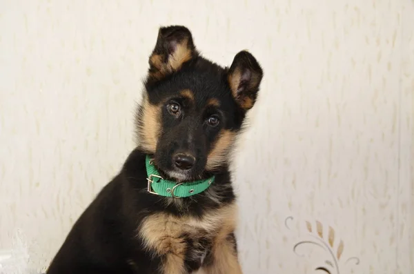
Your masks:
{"label": "tan fur on the puppy's right cheek, beside its black muzzle", "polygon": [[219,133],[215,146],[207,157],[207,170],[214,170],[217,166],[228,162],[230,150],[235,143],[235,137],[235,133],[230,130],[222,130],[221,133]]}

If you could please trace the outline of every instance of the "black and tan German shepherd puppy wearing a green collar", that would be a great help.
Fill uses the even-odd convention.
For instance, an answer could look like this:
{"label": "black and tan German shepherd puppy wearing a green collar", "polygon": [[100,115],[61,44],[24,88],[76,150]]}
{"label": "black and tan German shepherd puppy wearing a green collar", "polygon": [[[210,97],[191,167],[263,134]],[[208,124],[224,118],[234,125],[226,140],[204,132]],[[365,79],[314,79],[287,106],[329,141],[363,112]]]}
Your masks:
{"label": "black and tan German shepherd puppy wearing a green collar", "polygon": [[137,111],[139,144],[75,222],[48,274],[239,274],[230,153],[263,72],[201,57],[184,26],[159,29]]}

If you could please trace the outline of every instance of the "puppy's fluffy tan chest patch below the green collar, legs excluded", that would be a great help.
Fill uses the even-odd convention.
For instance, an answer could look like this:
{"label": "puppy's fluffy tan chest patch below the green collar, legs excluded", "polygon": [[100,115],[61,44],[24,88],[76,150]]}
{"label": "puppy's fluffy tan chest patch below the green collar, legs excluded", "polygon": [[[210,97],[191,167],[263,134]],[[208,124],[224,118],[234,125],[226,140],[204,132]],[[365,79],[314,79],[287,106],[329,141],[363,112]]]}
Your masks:
{"label": "puppy's fluffy tan chest patch below the green collar, legs excluded", "polygon": [[139,234],[151,253],[174,254],[189,262],[202,262],[220,237],[234,231],[234,214],[233,207],[201,218],[157,213],[144,219]]}

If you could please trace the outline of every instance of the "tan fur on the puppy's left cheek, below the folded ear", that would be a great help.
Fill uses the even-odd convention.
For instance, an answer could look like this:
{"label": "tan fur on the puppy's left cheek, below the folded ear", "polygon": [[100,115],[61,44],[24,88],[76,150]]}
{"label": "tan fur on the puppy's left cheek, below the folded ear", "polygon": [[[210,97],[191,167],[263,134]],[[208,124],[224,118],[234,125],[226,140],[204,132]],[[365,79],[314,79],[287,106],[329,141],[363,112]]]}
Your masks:
{"label": "tan fur on the puppy's left cheek, below the folded ear", "polygon": [[148,98],[144,98],[142,104],[142,117],[140,117],[141,124],[139,128],[139,147],[148,153],[154,153],[157,148],[157,141],[159,139],[159,133],[161,129],[159,106],[150,104]]}

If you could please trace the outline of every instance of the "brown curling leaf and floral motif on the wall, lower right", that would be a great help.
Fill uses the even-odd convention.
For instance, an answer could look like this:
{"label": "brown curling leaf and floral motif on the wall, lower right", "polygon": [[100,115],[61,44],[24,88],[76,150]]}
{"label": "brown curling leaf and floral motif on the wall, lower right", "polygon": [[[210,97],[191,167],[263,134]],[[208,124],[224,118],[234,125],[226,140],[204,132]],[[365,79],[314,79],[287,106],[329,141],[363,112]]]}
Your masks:
{"label": "brown curling leaf and floral motif on the wall, lower right", "polygon": [[[293,217],[287,217],[285,219],[286,228],[290,229],[289,223],[293,221]],[[300,246],[310,245],[317,247],[326,253],[326,260],[321,262],[319,266],[315,268],[315,271],[328,273],[328,274],[346,274],[342,272],[340,266],[353,266],[359,265],[358,257],[348,257],[344,260],[342,253],[344,253],[344,242],[342,239],[335,239],[335,230],[328,226],[327,234],[324,233],[324,226],[321,222],[316,221],[314,224],[306,221],[306,229],[308,231],[307,239],[297,242],[293,246],[293,252],[299,257],[304,257],[303,254],[298,253],[297,249]],[[335,242],[335,240],[339,242]]]}

